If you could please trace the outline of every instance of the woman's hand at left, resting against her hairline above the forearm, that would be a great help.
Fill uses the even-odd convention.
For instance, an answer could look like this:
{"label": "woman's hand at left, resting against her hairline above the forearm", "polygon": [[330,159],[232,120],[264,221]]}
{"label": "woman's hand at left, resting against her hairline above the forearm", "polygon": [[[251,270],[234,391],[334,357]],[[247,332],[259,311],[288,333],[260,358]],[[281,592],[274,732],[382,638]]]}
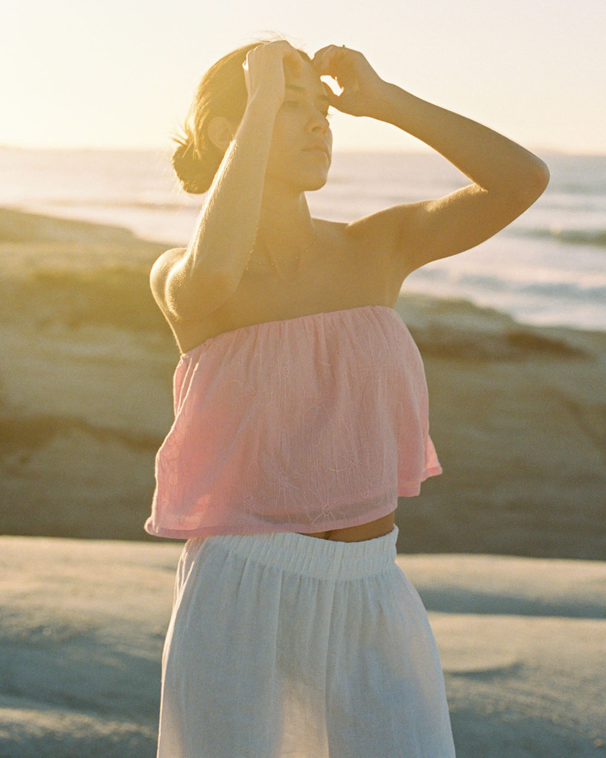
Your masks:
{"label": "woman's hand at left, resting against her hairline above the forearm", "polygon": [[262,42],[248,51],[242,64],[248,102],[257,98],[267,103],[268,108],[275,108],[276,111],[280,108],[286,92],[285,61],[293,76],[300,77],[303,73],[303,58],[286,39]]}

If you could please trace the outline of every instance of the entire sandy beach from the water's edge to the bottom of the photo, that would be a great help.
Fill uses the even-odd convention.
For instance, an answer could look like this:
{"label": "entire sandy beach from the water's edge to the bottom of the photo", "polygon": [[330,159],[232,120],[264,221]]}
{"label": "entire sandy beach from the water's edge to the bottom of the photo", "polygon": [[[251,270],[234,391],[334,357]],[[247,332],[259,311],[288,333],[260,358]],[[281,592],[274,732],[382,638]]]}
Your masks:
{"label": "entire sandy beach from the water's edge to the bottom of the photo", "polygon": [[[0,758],[155,755],[183,540],[148,535],[179,351],[171,246],[0,209]],[[458,758],[606,755],[606,333],[401,296],[444,473],[398,565]]]}

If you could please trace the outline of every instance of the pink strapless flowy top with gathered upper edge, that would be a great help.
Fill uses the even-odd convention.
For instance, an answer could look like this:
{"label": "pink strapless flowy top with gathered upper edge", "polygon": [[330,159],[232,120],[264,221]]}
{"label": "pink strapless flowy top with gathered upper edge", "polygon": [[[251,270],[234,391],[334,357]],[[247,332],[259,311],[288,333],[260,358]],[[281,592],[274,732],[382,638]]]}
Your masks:
{"label": "pink strapless flowy top with gathered upper edge", "polygon": [[217,334],[180,357],[173,399],[148,534],[357,526],[442,473],[423,361],[387,305]]}

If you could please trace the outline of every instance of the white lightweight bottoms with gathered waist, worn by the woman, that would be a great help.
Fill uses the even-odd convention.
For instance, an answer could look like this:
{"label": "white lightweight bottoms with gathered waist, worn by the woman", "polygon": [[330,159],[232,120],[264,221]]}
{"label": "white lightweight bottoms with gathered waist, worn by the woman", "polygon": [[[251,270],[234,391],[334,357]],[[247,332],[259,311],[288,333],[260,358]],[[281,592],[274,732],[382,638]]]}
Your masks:
{"label": "white lightweight bottoms with gathered waist, worn by the woman", "polygon": [[157,758],[453,758],[436,639],[397,537],[187,540]]}

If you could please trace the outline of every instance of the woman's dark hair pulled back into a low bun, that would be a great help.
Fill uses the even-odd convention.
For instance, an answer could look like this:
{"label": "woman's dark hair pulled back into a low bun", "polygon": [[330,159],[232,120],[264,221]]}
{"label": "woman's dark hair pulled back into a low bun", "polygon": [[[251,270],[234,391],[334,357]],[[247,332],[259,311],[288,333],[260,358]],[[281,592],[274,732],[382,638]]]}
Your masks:
{"label": "woman's dark hair pulled back into a low bun", "polygon": [[[242,121],[248,103],[242,68],[246,54],[257,45],[278,39],[283,37],[257,39],[223,55],[201,78],[182,127],[183,135],[171,135],[177,143],[173,168],[186,192],[194,195],[207,192],[223,160],[223,152],[208,138],[209,121],[215,116],[224,116],[235,124]],[[304,50],[295,49],[311,63]]]}

